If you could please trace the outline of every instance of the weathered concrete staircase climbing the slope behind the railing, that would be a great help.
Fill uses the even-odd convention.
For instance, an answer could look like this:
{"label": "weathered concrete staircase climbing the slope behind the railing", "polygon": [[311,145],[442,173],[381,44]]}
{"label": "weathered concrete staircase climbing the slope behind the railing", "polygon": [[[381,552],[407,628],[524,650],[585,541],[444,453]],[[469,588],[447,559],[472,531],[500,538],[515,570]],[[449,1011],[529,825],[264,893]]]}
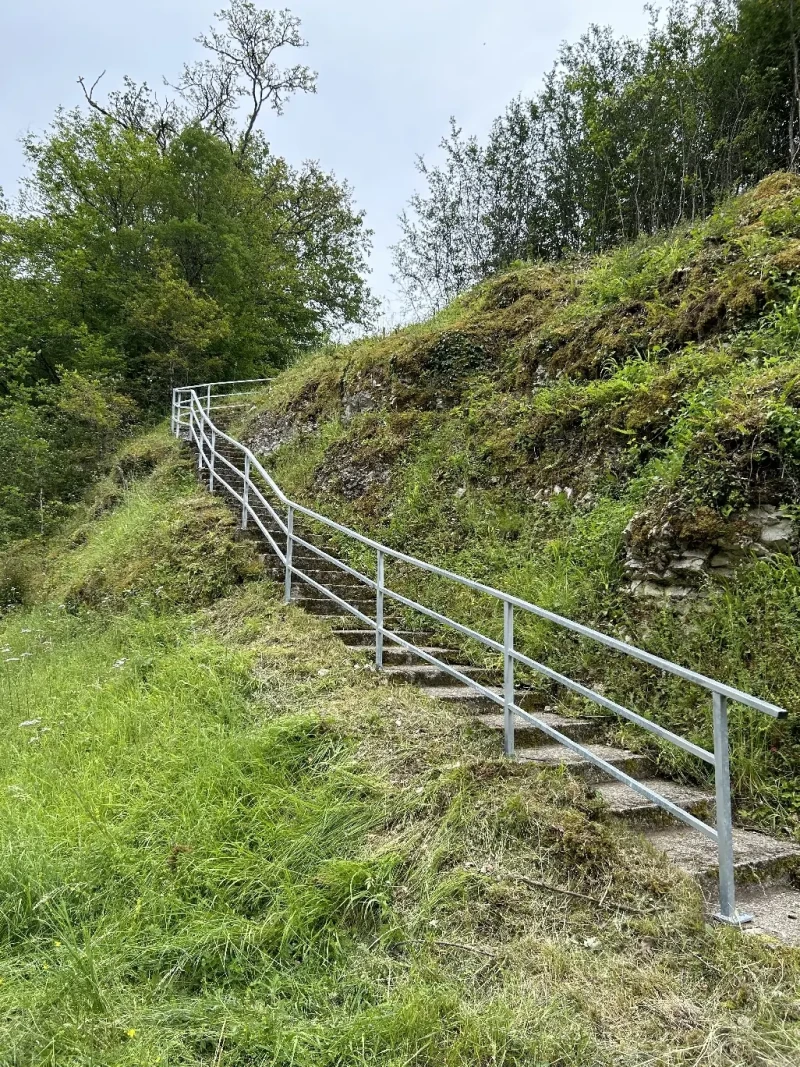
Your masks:
{"label": "weathered concrete staircase climbing the slope behind the railing", "polygon": [[[215,450],[219,456],[241,467],[240,448],[221,441],[217,443]],[[231,487],[241,492],[241,480],[237,485],[236,475],[229,468],[225,469],[225,474],[233,479]],[[204,472],[203,477],[207,479],[208,474]],[[215,491],[227,495],[237,513],[241,514],[242,506],[233,495],[227,494],[219,484]],[[258,505],[251,506],[251,514],[258,515],[283,552],[286,534],[270,515],[268,509]],[[310,530],[305,527],[301,528],[295,524],[294,534],[320,548],[330,551],[319,536],[313,537]],[[249,523],[249,536],[263,544],[265,552],[260,558],[265,568],[271,577],[283,583],[284,564],[260,531],[254,529],[252,521]],[[326,586],[364,615],[374,618],[374,590],[343,573],[335,564],[320,559],[303,545],[294,545],[292,561],[295,568],[305,572],[310,578]],[[291,599],[306,611],[329,618],[334,634],[355,653],[374,658],[375,632],[368,625],[362,624],[357,617],[342,612],[335,601],[298,576],[292,579]],[[437,659],[439,664],[454,666],[465,678],[502,695],[502,678],[496,676],[493,671],[465,663],[461,653],[446,647],[439,634],[426,627],[410,628],[404,618],[389,615],[384,618],[384,626],[395,632],[399,638],[415,644],[420,652]],[[422,656],[416,655],[397,642],[391,642],[389,638],[385,641],[382,669],[390,681],[417,685],[429,697],[452,703],[465,714],[475,716],[476,722],[497,738],[498,751],[502,751],[505,717],[498,714],[495,701],[468,685],[454,684],[452,675],[444,666],[426,662]],[[650,786],[655,793],[684,811],[702,819],[714,819],[716,803],[714,793],[670,781],[657,774],[646,755],[628,751],[614,744],[614,728],[618,724],[614,716],[593,714],[577,718],[559,714],[553,707],[543,706],[537,694],[522,688],[515,690],[514,703],[525,711],[530,711],[540,721],[558,730],[566,738],[578,742],[587,752]],[[555,744],[534,726],[519,722],[515,739],[517,761],[537,770],[544,767],[565,767],[571,774],[587,782],[605,801],[609,818],[636,827],[651,845],[665,853],[678,867],[699,880],[709,912],[715,911],[718,903],[716,889],[718,851],[714,841],[672,817],[663,808],[623,782],[609,778],[579,752],[572,751],[562,744]],[[755,915],[753,922],[748,922],[749,917],[742,917],[740,921],[747,925],[742,925],[741,929],[747,933],[768,934],[786,943],[800,945],[800,890],[795,888],[800,876],[800,847],[789,841],[735,828],[733,866],[737,885],[737,905],[740,911],[747,910]]]}

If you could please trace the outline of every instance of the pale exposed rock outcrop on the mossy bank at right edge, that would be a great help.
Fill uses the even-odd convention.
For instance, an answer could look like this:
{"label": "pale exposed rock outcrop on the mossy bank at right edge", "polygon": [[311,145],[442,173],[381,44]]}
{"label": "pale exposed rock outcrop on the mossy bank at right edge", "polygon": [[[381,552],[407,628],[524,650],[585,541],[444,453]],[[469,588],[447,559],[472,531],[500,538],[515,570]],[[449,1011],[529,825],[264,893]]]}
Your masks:
{"label": "pale exposed rock outcrop on the mossy bank at right edge", "polygon": [[708,577],[731,577],[736,564],[748,558],[790,554],[798,544],[794,521],[775,505],[751,508],[705,543],[681,538],[669,521],[647,528],[646,517],[635,515],[625,528],[625,570],[636,596],[681,600]]}

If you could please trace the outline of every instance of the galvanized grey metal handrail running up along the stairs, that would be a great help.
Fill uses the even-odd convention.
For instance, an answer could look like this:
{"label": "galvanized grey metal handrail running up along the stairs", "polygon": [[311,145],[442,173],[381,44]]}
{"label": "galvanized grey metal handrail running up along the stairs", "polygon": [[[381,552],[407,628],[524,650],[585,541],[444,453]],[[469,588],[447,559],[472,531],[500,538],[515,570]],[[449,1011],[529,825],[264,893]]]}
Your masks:
{"label": "galvanized grey metal handrail running up along the stairs", "polygon": [[[383,644],[384,640],[388,639],[399,644],[401,648],[413,652],[415,656],[418,656],[426,663],[436,666],[447,673],[449,673],[457,681],[461,682],[463,685],[469,686],[479,695],[483,696],[487,700],[498,704],[503,708],[503,736],[505,736],[505,752],[508,757],[513,757],[514,754],[514,729],[516,719],[521,719],[523,722],[527,722],[534,726],[537,729],[541,730],[548,737],[563,745],[565,748],[571,749],[574,752],[580,754],[588,762],[598,767],[601,770],[608,774],[610,777],[615,778],[618,781],[623,782],[625,785],[645,797],[651,802],[657,805],[663,811],[673,815],[675,818],[681,819],[686,823],[692,829],[698,830],[700,833],[711,839],[717,843],[718,860],[719,860],[719,895],[720,895],[720,908],[717,918],[734,924],[741,924],[749,922],[752,917],[743,915],[736,910],[736,895],[735,895],[735,881],[734,881],[734,856],[733,856],[733,816],[732,816],[732,803],[731,803],[731,773],[730,773],[730,753],[729,753],[729,732],[727,732],[727,702],[729,700],[734,700],[737,703],[745,704],[748,707],[754,708],[755,711],[763,712],[764,714],[770,715],[773,718],[785,718],[787,712],[783,707],[779,707],[777,704],[772,704],[769,701],[762,700],[758,697],[754,697],[751,694],[743,692],[733,686],[725,685],[722,682],[718,682],[715,679],[708,678],[705,674],[701,674],[698,671],[689,670],[686,667],[681,667],[678,664],[674,664],[669,659],[663,659],[660,656],[656,656],[653,653],[645,652],[643,649],[638,649],[636,646],[629,644],[626,641],[621,641],[615,637],[610,637],[607,634],[603,634],[599,631],[593,630],[591,626],[586,626],[582,623],[574,622],[572,619],[567,619],[564,616],[557,615],[554,611],[548,611],[546,608],[540,607],[537,604],[532,604],[529,601],[525,601],[522,598],[514,596],[510,593],[502,592],[499,589],[495,589],[492,586],[486,586],[481,582],[475,582],[471,578],[466,578],[461,574],[457,574],[453,571],[448,571],[446,568],[438,567],[435,563],[428,563],[425,560],[417,559],[414,556],[410,556],[406,553],[398,552],[395,548],[390,548],[388,545],[381,544],[379,541],[372,538],[365,537],[363,534],[358,534],[356,530],[352,530],[340,523],[329,519],[319,512],[314,511],[311,508],[307,508],[294,500],[291,500],[283,490],[277,485],[274,479],[265,471],[263,466],[258,462],[253,452],[241,442],[237,441],[235,437],[225,433],[221,430],[211,419],[211,411],[215,407],[222,407],[224,410],[229,410],[224,404],[217,403],[214,400],[219,401],[224,399],[226,394],[213,394],[212,389],[219,385],[247,385],[247,384],[262,384],[271,379],[253,379],[250,381],[241,382],[206,382],[202,386],[185,386],[173,389],[173,416],[172,416],[172,428],[173,433],[176,436],[181,436],[182,433],[188,432],[190,440],[192,440],[197,448],[197,465],[199,469],[205,466],[209,472],[209,490],[214,491],[214,485],[219,483],[242,506],[241,513],[241,524],[243,528],[247,527],[249,522],[252,520],[261,534],[267,538],[270,546],[275,552],[279,561],[284,564],[285,569],[285,599],[288,602],[291,598],[292,590],[292,578],[297,577],[302,579],[304,583],[308,584],[311,588],[317,589],[324,596],[327,596],[336,604],[345,608],[351,615],[355,616],[357,619],[366,623],[368,626],[375,631],[375,664],[380,668],[383,667]],[[197,391],[202,391],[198,394]],[[247,391],[244,391],[247,392]],[[233,395],[233,394],[227,394]],[[239,394],[237,394],[239,395]],[[202,399],[201,399],[202,396]],[[185,415],[188,413],[188,421],[185,420]],[[223,456],[217,449],[217,442],[225,441],[234,448],[238,449],[243,458],[243,467],[239,469],[235,463]],[[238,479],[241,479],[242,491],[239,493],[229,481],[220,474],[218,462],[235,472]],[[269,492],[277,498],[279,504],[286,508],[286,521],[284,521],[281,515],[275,511],[272,505],[267,500],[263,493],[259,490],[258,485],[253,481],[253,475],[258,475],[266,483]],[[275,541],[273,534],[275,529],[268,529],[267,526],[261,522],[260,516],[255,510],[252,503],[253,498],[258,499],[260,505],[266,508],[268,514],[275,524],[278,536],[283,535],[286,539],[286,550],[282,552],[277,542]],[[370,578],[365,574],[362,574],[357,569],[343,563],[341,560],[337,559],[335,556],[325,552],[317,545],[311,544],[309,541],[294,534],[294,516],[297,514],[305,515],[314,522],[320,523],[321,525],[327,527],[329,529],[335,530],[336,532],[347,537],[348,539],[355,541],[356,543],[370,548],[375,553],[377,562],[377,578]],[[329,589],[324,584],[313,578],[310,575],[306,574],[301,568],[299,568],[293,560],[293,548],[295,545],[300,545],[307,551],[310,551],[316,557],[326,560],[335,564],[343,573],[355,577],[357,580],[362,582],[365,587],[371,590],[375,596],[375,617],[370,618],[369,615],[362,611],[355,605],[350,604],[348,600],[340,596],[338,593]],[[386,586],[385,583],[385,561],[386,559],[394,559],[402,563],[406,563],[412,568],[423,573],[433,574],[437,577],[445,578],[450,582],[454,582],[461,586],[471,589],[475,592],[493,598],[499,601],[503,605],[503,640],[500,642],[485,634],[481,634],[477,630],[473,630],[469,626],[465,626],[463,623],[457,622],[454,619],[449,618],[433,608],[429,608],[419,602],[403,595],[397,590],[393,590]],[[412,641],[406,640],[399,634],[386,627],[384,624],[384,607],[386,598],[389,600],[402,604],[404,607],[411,608],[414,611],[420,612],[427,618],[437,622],[441,625],[445,625],[460,633],[471,640],[478,641],[485,648],[492,649],[498,652],[503,657],[503,686],[500,691],[493,689],[489,686],[482,685],[475,679],[459,671],[457,667],[451,664],[445,663],[435,655],[425,651]],[[514,647],[514,611],[515,609],[526,611],[529,615],[533,615],[538,618],[544,619],[548,622],[560,626],[563,630],[570,631],[579,635],[580,637],[589,638],[590,640],[598,643],[605,648],[613,649],[617,652],[621,652],[624,655],[633,659],[637,659],[641,663],[645,663],[651,667],[655,667],[658,670],[665,671],[667,673],[673,674],[676,678],[682,679],[685,682],[689,682],[693,685],[699,685],[711,694],[711,708],[714,717],[714,752],[709,752],[693,742],[682,737],[679,734],[668,730],[666,727],[659,726],[657,722],[653,722],[651,719],[639,715],[637,712],[630,708],[624,707],[622,704],[617,703],[613,700],[608,699],[594,689],[582,685],[580,682],[561,674],[556,670],[539,663],[535,659],[531,659],[526,656],[523,652]],[[637,781],[631,778],[625,771],[621,770],[619,767],[614,767],[612,764],[608,763],[597,753],[591,751],[591,749],[586,748],[579,742],[573,740],[565,734],[561,733],[550,723],[543,719],[538,718],[530,712],[525,711],[515,702],[515,690],[514,690],[514,666],[515,664],[521,664],[528,669],[541,674],[548,680],[556,682],[559,685],[569,688],[571,691],[578,694],[580,697],[592,701],[593,703],[604,707],[606,711],[610,711],[615,715],[627,719],[630,722],[642,727],[650,733],[660,737],[662,740],[670,742],[676,747],[681,748],[683,751],[688,752],[698,759],[704,760],[706,763],[711,764],[715,768],[715,784],[716,784],[716,827],[710,826],[703,819],[698,818],[691,812],[686,811],[679,806],[675,805],[673,801],[669,800],[667,797],[661,796],[656,791],[650,789],[650,786],[644,785],[642,782]]]}

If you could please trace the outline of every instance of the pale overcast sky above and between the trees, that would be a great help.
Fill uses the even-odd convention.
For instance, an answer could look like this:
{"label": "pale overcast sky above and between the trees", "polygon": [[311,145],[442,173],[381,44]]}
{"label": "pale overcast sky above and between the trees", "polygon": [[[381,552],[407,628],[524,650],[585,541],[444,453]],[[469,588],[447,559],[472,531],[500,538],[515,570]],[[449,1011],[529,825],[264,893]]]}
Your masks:
{"label": "pale overcast sky above and between the trees", "polygon": [[[279,0],[303,20],[302,60],[316,96],[265,128],[292,162],[317,159],[352,185],[374,230],[372,287],[393,306],[389,245],[418,185],[417,154],[435,159],[450,115],[479,136],[517,93],[541,83],[561,41],[590,22],[638,36],[643,0]],[[79,75],[107,70],[160,85],[199,48],[221,0],[0,0],[0,188],[23,172],[19,138],[81,99]]]}

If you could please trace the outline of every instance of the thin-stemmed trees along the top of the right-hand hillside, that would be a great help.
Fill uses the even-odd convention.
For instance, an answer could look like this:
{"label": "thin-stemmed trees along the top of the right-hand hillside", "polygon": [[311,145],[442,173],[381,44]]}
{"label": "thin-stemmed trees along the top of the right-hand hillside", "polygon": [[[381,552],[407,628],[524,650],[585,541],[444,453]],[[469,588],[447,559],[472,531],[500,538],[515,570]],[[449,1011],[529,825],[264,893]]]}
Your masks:
{"label": "thin-stemmed trees along the top of the right-hand hillside", "polygon": [[706,214],[800,153],[795,0],[672,0],[642,41],[593,27],[485,144],[453,121],[402,218],[398,280],[442,307],[516,259]]}

